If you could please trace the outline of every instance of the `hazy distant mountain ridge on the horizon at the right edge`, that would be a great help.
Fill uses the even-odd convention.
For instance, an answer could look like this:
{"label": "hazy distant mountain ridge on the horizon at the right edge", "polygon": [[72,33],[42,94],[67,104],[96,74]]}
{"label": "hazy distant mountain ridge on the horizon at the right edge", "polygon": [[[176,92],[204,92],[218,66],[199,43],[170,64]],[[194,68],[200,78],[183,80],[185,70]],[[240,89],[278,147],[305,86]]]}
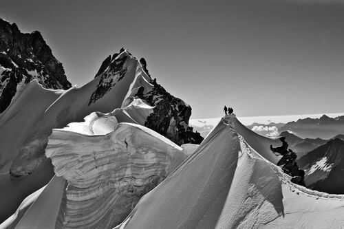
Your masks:
{"label": "hazy distant mountain ridge on the horizon at the right edge", "polygon": [[321,118],[299,119],[279,128],[279,133],[283,131],[292,131],[301,138],[330,139],[344,133],[344,116],[330,118],[323,115]]}

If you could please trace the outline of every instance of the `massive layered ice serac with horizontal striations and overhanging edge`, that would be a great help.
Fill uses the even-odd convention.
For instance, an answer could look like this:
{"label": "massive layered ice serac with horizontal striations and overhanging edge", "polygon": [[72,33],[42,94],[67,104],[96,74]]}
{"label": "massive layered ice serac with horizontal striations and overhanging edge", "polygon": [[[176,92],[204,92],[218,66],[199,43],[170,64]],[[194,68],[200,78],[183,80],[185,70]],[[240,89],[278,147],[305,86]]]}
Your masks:
{"label": "massive layered ice serac with horizontal striations and overhanging edge", "polygon": [[[96,126],[106,132],[104,124]],[[55,129],[46,155],[56,175],[68,184],[56,228],[118,225],[140,197],[165,179],[188,153],[138,124],[120,123],[105,135]]]}

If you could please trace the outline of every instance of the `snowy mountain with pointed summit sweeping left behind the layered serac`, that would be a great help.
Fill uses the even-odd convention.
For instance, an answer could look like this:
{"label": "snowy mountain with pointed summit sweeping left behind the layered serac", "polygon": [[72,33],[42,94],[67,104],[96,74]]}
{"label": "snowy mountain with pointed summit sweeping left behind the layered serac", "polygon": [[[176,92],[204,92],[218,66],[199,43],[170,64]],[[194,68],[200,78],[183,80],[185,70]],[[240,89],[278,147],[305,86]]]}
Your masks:
{"label": "snowy mountain with pointed summit sweeping left behind the layered serac", "polygon": [[[109,113],[116,109],[119,109],[116,116],[122,122],[144,124],[154,109],[159,109],[158,102],[167,100],[166,93],[159,94],[159,90],[154,92],[153,99],[159,100],[152,100],[153,106],[139,98],[155,90],[155,80],[129,52],[122,50],[110,61],[96,78],[80,88],[44,89],[37,80],[32,80],[0,114],[0,185],[4,187],[0,194],[8,197],[1,204],[0,220],[6,219],[20,201],[47,184],[54,175],[52,164],[44,154],[52,129],[80,122],[94,111]],[[184,138],[185,143],[195,140],[192,137],[195,133],[187,124],[191,108],[186,108],[190,112],[185,113],[189,105],[173,96],[168,98],[179,101],[164,102],[162,107],[163,111],[174,111],[173,116],[151,123],[164,127],[166,136],[178,140],[176,143]],[[179,129],[181,125],[184,131]],[[201,138],[196,140],[202,141]]]}

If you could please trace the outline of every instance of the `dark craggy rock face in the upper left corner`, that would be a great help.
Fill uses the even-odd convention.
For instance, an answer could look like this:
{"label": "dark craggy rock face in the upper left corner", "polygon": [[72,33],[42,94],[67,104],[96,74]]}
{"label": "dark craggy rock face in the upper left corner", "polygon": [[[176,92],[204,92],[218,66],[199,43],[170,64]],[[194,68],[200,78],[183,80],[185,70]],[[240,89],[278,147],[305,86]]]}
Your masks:
{"label": "dark craggy rock face in the upper left corner", "polygon": [[0,19],[0,112],[10,105],[17,89],[33,79],[49,89],[72,86],[39,32],[23,34],[15,23]]}

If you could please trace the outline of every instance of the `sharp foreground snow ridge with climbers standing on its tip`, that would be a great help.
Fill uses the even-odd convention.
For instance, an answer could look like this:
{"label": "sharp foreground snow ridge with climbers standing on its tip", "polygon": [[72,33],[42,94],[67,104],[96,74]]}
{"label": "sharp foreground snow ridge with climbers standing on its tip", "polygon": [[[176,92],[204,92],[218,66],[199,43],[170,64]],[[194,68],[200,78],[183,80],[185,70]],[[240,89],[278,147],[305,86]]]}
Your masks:
{"label": "sharp foreground snow ridge with climbers standing on its tip", "polygon": [[344,196],[292,184],[227,116],[116,228],[340,228]]}

